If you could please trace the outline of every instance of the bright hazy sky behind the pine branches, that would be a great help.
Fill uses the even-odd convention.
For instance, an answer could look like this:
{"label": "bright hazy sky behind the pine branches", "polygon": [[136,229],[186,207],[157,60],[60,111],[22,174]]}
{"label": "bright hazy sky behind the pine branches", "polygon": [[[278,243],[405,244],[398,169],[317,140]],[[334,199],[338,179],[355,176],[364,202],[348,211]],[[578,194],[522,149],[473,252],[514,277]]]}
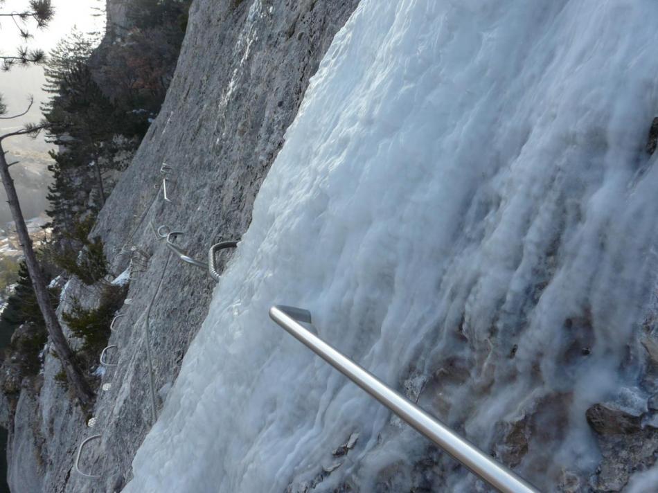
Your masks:
{"label": "bright hazy sky behind the pine branches", "polygon": [[[74,26],[82,32],[90,32],[100,30],[105,23],[104,13],[95,10],[95,8],[104,8],[105,0],[53,0],[52,3],[55,8],[55,18],[48,25],[48,28],[36,30],[33,28],[33,23],[28,23],[28,30],[34,35],[34,38],[27,43],[30,48],[41,48],[48,53],[62,37],[71,32]],[[3,4],[0,4],[0,11],[19,11],[24,10],[26,6],[28,6],[28,0],[6,0]],[[103,13],[103,15],[99,17],[99,13]],[[26,43],[22,42],[13,22],[7,18],[2,19],[0,25],[0,53],[13,55],[17,46],[25,46]],[[44,82],[44,73],[41,67],[23,69],[15,66],[9,72],[0,72],[0,93],[4,96],[10,114],[25,109],[29,94],[35,96],[36,99],[28,118],[22,120],[22,122],[3,121],[0,123],[0,131],[25,121],[35,121],[41,118],[39,103],[44,99],[42,91]],[[7,147],[10,147],[9,142]]]}

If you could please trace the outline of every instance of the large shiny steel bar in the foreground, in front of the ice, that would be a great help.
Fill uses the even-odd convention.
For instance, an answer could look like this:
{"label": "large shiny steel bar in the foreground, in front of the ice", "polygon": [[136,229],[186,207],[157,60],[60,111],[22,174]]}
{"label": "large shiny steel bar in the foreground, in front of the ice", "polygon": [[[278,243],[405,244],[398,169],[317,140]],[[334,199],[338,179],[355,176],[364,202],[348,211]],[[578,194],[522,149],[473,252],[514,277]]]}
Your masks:
{"label": "large shiny steel bar in the foreground, in front of the ice", "polygon": [[375,375],[329,346],[301,325],[311,323],[311,314],[301,308],[274,306],[269,316],[295,339],[310,348],[328,364],[339,370],[364,391],[375,397],[411,427],[432,440],[452,458],[467,467],[473,474],[503,493],[539,493],[504,465],[497,463],[488,454],[464,440],[445,424],[433,418],[413,402],[395,392]]}

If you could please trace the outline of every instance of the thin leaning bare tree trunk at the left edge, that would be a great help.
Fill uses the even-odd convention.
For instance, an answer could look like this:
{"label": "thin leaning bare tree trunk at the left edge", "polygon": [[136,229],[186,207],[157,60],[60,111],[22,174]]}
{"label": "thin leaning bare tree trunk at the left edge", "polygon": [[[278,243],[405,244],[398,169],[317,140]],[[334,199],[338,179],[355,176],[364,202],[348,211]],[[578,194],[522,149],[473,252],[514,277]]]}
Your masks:
{"label": "thin leaning bare tree trunk at the left edge", "polygon": [[53,305],[51,305],[51,301],[48,298],[46,280],[39,266],[39,262],[37,261],[37,257],[35,256],[32,240],[28,234],[28,228],[21,211],[21,204],[19,203],[18,195],[16,194],[14,180],[9,172],[9,165],[5,159],[5,153],[2,150],[2,139],[7,136],[10,136],[10,134],[0,137],[0,179],[2,179],[2,184],[7,193],[7,201],[16,224],[16,232],[18,234],[19,242],[23,247],[25,263],[37,296],[39,310],[41,310],[44,316],[44,321],[46,322],[46,330],[55,345],[57,356],[64,367],[69,385],[73,389],[75,397],[80,400],[80,404],[82,404],[83,407],[88,408],[94,402],[94,392],[91,390],[89,383],[82,375],[80,366],[75,361],[75,354],[73,353],[73,350],[71,350],[69,342],[66,341],[66,337],[64,337],[60,321],[57,320],[57,314],[55,314]]}

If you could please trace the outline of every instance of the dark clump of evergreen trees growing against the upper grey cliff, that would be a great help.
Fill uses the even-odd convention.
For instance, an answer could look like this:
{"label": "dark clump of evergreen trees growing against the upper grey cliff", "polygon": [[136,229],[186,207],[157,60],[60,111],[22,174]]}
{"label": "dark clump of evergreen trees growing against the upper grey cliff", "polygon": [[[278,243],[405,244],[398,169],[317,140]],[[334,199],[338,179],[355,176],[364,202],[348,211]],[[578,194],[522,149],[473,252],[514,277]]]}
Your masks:
{"label": "dark clump of evergreen trees growing against the upper grey cliff", "polygon": [[[53,183],[46,210],[57,247],[57,264],[86,283],[75,249],[100,265],[100,244],[71,239],[80,217],[96,215],[112,192],[118,173],[136,152],[157,116],[177,62],[190,0],[136,0],[128,5],[130,29],[111,44],[79,32],[63,39],[48,56],[51,98],[42,107],[51,152]],[[104,42],[105,43],[105,42]],[[91,231],[91,229],[90,229]],[[98,261],[98,262],[97,262]],[[100,277],[99,277],[100,276]]]}

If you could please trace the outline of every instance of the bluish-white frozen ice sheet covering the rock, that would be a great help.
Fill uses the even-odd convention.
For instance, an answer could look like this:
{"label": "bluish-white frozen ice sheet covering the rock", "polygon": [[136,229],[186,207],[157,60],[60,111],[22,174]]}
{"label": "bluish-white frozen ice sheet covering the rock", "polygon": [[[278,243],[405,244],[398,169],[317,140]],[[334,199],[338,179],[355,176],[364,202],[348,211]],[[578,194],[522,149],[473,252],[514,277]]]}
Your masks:
{"label": "bluish-white frozen ice sheet covering the rock", "polygon": [[428,457],[473,491],[275,303],[542,489],[592,474],[586,409],[646,398],[657,25],[649,0],[362,0],[124,491],[408,491]]}

